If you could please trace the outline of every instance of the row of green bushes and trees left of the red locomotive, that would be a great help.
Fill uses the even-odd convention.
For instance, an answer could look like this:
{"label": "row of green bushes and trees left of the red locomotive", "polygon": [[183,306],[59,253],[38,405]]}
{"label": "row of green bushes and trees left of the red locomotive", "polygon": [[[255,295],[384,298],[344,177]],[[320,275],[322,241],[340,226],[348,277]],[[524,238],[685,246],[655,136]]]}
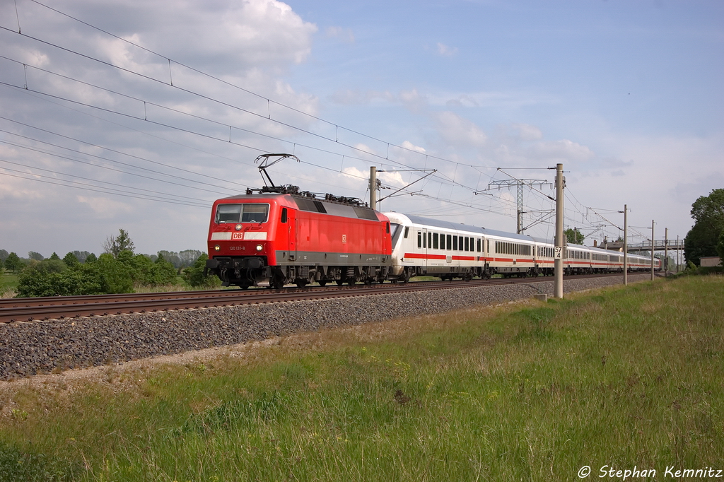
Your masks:
{"label": "row of green bushes and trees left of the red locomotive", "polygon": [[207,255],[201,251],[145,255],[134,250],[128,233],[119,229],[117,237],[104,242],[104,253],[99,256],[72,251],[64,258],[56,253],[43,258],[30,251],[23,259],[17,253],[0,250],[0,268],[18,274],[17,297],[103,295],[184,283],[199,288],[220,284],[216,276],[204,276]]}

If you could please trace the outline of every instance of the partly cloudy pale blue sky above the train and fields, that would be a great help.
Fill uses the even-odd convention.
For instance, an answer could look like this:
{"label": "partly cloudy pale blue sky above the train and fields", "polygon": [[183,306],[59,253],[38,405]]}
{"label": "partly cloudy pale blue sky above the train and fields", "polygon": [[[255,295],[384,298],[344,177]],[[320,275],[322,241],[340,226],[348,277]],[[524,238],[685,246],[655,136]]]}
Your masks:
{"label": "partly cloudy pale blue sky above the train and fields", "polygon": [[[1,0],[0,249],[206,249],[276,185],[586,244],[724,187],[721,1]],[[414,182],[414,184],[409,185]],[[513,186],[511,186],[513,185]],[[390,196],[387,198],[387,196]]]}

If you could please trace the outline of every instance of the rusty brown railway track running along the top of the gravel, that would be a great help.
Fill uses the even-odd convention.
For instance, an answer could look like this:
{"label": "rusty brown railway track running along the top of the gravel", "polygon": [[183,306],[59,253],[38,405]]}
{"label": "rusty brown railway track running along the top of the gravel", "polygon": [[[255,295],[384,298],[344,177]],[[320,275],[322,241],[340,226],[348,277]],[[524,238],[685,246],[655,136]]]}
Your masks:
{"label": "rusty brown railway track running along the top of the gravel", "polygon": [[[605,276],[622,275],[619,273],[588,274],[566,276],[565,279],[584,279]],[[138,293],[129,295],[9,298],[0,300],[0,323],[552,281],[553,278],[548,276],[537,278],[475,279],[471,282],[437,281],[410,282],[407,284],[385,283],[332,287],[290,287],[285,289],[219,289],[213,291]]]}

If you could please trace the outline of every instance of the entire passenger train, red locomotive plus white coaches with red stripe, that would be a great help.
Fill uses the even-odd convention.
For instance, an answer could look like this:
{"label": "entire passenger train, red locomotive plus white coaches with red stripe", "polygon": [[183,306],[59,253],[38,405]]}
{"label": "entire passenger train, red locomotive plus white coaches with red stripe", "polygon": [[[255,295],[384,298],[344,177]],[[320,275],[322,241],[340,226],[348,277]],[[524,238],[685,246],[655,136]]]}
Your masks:
{"label": "entire passenger train, red locomotive plus white coaches with red stripe", "polygon": [[[355,198],[300,192],[295,186],[247,190],[216,200],[209,224],[207,272],[224,286],[281,288],[317,282],[407,282],[413,276],[472,279],[553,274],[554,245],[513,234],[381,213]],[[568,245],[565,274],[623,271],[623,253]],[[660,269],[660,261],[654,269]],[[628,269],[651,259],[628,255]]]}

